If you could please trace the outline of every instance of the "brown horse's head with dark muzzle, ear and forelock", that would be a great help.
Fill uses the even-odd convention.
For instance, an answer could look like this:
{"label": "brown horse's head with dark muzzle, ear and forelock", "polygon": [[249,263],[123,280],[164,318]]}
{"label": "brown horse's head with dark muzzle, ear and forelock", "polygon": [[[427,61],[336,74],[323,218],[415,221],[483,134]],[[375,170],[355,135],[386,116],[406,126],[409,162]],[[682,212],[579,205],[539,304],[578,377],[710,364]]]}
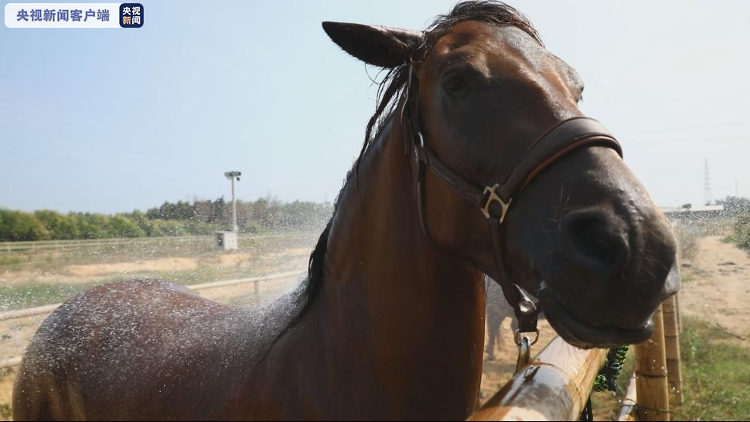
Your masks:
{"label": "brown horse's head with dark muzzle, ear and forelock", "polygon": [[415,200],[436,248],[535,295],[573,345],[651,336],[654,310],[679,289],[667,281],[670,225],[619,144],[579,109],[579,75],[525,17],[465,2],[427,31],[323,26],[390,69],[379,111],[390,101],[409,134]]}

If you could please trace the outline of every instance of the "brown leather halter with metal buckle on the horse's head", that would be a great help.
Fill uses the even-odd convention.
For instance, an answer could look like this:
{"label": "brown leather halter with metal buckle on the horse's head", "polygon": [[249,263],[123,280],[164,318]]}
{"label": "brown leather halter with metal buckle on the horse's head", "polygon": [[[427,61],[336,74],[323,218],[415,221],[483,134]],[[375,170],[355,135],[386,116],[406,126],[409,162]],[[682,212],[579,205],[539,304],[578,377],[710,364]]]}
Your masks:
{"label": "brown leather halter with metal buckle on the horse's head", "polygon": [[[508,303],[513,306],[519,332],[535,332],[539,310],[523,289],[512,282],[507,254],[503,247],[504,223],[513,201],[518,201],[524,188],[544,169],[579,148],[593,145],[604,146],[614,149],[622,157],[622,147],[615,137],[594,119],[574,117],[563,120],[547,129],[542,136],[530,144],[504,182],[482,188],[451,170],[425,142],[420,125],[418,82],[412,64],[409,69],[401,119],[404,127],[411,129],[410,136],[405,139],[411,138],[417,162],[417,209],[422,231],[434,245],[425,221],[424,173],[425,168],[428,168],[458,196],[476,206],[487,218],[495,249],[495,266],[500,276],[500,280],[496,281],[500,284]],[[405,148],[406,153],[411,149],[408,143]]]}

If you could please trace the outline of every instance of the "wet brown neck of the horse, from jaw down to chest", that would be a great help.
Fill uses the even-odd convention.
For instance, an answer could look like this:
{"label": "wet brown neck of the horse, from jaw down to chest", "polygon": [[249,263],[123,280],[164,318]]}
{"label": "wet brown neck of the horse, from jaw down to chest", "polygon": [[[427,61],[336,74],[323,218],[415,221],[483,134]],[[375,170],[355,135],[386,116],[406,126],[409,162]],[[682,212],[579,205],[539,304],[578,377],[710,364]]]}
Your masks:
{"label": "wet brown neck of the horse, from jaw down to chest", "polygon": [[481,379],[482,277],[422,233],[412,155],[404,154],[400,127],[384,132],[345,187],[331,226],[315,304],[326,353],[346,366],[344,385],[367,377],[401,416],[406,408],[424,416],[443,401],[441,411],[465,417]]}

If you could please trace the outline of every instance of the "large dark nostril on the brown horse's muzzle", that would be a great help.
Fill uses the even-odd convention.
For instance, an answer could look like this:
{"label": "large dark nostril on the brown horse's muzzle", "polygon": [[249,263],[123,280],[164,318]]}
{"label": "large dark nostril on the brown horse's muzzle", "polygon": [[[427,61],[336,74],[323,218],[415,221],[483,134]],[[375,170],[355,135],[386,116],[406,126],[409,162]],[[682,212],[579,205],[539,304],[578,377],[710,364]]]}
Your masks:
{"label": "large dark nostril on the brown horse's muzzle", "polygon": [[573,211],[563,217],[563,241],[571,259],[584,267],[613,272],[630,259],[627,226],[598,210]]}

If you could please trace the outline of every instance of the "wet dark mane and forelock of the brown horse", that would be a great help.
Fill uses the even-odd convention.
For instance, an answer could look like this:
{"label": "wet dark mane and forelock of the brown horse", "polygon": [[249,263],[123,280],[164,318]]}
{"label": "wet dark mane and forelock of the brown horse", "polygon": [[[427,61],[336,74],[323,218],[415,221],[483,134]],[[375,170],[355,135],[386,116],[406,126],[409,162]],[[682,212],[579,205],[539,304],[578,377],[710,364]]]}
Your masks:
{"label": "wet dark mane and forelock of the brown horse", "polygon": [[[529,34],[539,42],[539,44],[542,44],[539,34],[536,29],[534,29],[528,18],[513,7],[493,0],[463,1],[454,6],[449,13],[439,15],[435,18],[432,24],[430,24],[424,32],[422,44],[417,51],[414,52],[412,61],[419,62],[424,59],[435,43],[447,34],[453,26],[467,20],[486,22],[498,26],[515,26]],[[409,77],[410,65],[411,63],[404,63],[392,69],[388,69],[383,79],[380,82],[376,82],[378,84],[376,100],[377,107],[375,108],[375,113],[370,117],[370,120],[367,123],[362,149],[360,150],[357,160],[354,162],[354,166],[347,173],[344,185],[336,197],[331,219],[328,221],[323,233],[321,233],[318,238],[318,243],[315,246],[315,249],[310,254],[307,280],[303,286],[306,290],[304,297],[307,300],[304,307],[305,310],[309,308],[309,304],[314,299],[315,293],[317,293],[323,283],[325,256],[328,249],[328,236],[331,231],[333,219],[338,211],[339,200],[349,185],[349,182],[352,180],[353,175],[357,173],[359,163],[367,153],[370,144],[375,142],[375,139],[378,138],[381,131],[387,126],[389,118],[393,115],[393,112],[396,109],[396,105],[401,101]],[[303,313],[304,310],[300,313],[300,316]]]}

